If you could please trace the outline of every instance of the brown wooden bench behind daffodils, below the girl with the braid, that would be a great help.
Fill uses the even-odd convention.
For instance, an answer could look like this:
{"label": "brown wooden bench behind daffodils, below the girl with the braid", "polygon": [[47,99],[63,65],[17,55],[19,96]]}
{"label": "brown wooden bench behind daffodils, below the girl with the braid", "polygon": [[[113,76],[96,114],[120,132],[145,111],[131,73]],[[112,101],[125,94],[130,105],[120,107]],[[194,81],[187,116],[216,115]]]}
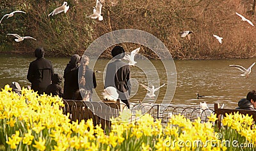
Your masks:
{"label": "brown wooden bench behind daffodils, below the girl with the braid", "polygon": [[81,120],[93,120],[93,125],[101,124],[102,129],[110,128],[111,117],[117,117],[119,111],[125,108],[120,102],[88,102],[83,100],[64,100],[63,114],[70,118],[70,122],[81,122]]}

